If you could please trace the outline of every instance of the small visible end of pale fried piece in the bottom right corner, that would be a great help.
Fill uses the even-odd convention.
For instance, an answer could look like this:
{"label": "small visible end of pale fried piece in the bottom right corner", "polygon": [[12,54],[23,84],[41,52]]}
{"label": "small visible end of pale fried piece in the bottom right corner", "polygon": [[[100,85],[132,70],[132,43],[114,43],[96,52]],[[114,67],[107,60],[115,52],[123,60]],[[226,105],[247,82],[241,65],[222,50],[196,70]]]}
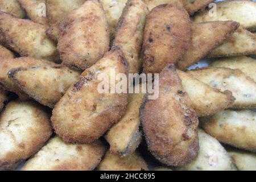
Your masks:
{"label": "small visible end of pale fried piece in the bottom right corner", "polygon": [[246,151],[228,151],[239,171],[256,171],[256,154]]}

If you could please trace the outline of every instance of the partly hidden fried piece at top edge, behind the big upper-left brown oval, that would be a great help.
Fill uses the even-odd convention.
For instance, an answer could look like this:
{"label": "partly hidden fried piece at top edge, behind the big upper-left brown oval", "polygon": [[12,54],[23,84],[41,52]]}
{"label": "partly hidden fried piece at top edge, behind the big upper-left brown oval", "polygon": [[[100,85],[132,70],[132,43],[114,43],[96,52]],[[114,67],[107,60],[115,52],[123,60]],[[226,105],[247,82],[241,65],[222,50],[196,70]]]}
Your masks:
{"label": "partly hidden fried piece at top edge, behind the big upper-left brown oval", "polygon": [[46,0],[47,18],[50,28],[47,35],[53,40],[59,37],[59,26],[63,19],[74,9],[79,8],[86,0]]}

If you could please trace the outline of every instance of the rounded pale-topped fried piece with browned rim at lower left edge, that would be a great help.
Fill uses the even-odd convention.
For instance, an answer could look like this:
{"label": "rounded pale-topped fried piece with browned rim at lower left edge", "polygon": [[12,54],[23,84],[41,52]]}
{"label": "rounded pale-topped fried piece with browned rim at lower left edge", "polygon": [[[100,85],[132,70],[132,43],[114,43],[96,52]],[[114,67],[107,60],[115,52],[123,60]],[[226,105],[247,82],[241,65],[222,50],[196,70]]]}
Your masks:
{"label": "rounded pale-topped fried piece with browned rim at lower left edge", "polygon": [[52,135],[50,122],[34,102],[9,102],[0,117],[0,169],[15,169],[40,150]]}

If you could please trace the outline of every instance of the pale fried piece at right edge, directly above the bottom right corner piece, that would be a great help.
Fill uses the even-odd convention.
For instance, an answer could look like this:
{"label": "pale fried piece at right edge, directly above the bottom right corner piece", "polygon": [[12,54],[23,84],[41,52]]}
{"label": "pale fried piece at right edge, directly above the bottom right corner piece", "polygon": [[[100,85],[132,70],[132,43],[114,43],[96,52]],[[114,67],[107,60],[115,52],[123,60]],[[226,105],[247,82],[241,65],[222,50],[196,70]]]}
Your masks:
{"label": "pale fried piece at right edge, directly above the bottom right corner piece", "polygon": [[204,131],[222,143],[256,151],[256,112],[223,110],[200,120]]}

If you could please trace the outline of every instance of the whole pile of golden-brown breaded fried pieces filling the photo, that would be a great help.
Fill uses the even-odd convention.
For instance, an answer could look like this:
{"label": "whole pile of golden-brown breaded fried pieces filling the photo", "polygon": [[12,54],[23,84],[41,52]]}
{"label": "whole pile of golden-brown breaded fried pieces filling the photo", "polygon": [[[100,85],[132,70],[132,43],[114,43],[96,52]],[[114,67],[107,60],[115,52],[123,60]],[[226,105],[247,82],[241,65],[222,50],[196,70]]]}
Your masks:
{"label": "whole pile of golden-brown breaded fried pieces filling the photo", "polygon": [[213,2],[0,0],[0,169],[256,170],[256,2]]}

